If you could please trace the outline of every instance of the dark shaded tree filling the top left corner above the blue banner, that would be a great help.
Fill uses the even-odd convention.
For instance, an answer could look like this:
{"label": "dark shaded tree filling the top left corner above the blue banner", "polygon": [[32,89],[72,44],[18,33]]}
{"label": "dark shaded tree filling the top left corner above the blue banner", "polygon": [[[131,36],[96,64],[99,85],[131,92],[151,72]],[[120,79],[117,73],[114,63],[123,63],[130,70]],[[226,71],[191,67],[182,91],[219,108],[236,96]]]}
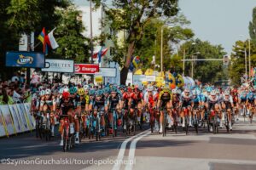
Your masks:
{"label": "dark shaded tree filling the top left corner above the blue banner", "polygon": [[[2,0],[0,3],[0,71],[3,78],[17,70],[4,67],[6,51],[17,51],[20,36],[35,32],[37,36],[43,27],[53,28],[57,18],[56,7],[67,7],[69,0]],[[42,51],[42,47],[35,48]],[[5,70],[5,71],[3,71]],[[6,71],[7,70],[7,71]]]}

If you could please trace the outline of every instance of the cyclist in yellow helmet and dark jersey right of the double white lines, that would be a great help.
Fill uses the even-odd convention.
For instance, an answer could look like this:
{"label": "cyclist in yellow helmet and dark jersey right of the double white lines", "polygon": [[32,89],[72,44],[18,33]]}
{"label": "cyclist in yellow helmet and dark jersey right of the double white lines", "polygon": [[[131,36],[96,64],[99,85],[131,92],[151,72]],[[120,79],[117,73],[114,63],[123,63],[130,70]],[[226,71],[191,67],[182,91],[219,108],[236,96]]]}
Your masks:
{"label": "cyclist in yellow helmet and dark jersey right of the double white lines", "polygon": [[159,94],[159,100],[157,103],[157,108],[160,108],[160,133],[163,133],[163,122],[164,122],[164,112],[162,109],[166,108],[169,116],[172,117],[172,92],[169,88],[164,87],[163,90]]}

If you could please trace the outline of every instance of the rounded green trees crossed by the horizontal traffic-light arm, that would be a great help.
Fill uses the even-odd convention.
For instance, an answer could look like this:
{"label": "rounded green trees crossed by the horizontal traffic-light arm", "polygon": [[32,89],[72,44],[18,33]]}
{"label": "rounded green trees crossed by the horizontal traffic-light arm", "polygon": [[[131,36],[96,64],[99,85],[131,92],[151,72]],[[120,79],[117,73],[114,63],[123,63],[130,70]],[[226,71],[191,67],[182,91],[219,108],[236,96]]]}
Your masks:
{"label": "rounded green trees crossed by the horizontal traffic-light arm", "polygon": [[[220,45],[214,46],[210,42],[200,39],[183,43],[180,54],[185,50],[185,59],[223,59],[224,48]],[[192,61],[185,63],[185,76],[191,76]],[[216,82],[227,79],[227,68],[223,61],[195,61],[194,78],[201,82]]]}

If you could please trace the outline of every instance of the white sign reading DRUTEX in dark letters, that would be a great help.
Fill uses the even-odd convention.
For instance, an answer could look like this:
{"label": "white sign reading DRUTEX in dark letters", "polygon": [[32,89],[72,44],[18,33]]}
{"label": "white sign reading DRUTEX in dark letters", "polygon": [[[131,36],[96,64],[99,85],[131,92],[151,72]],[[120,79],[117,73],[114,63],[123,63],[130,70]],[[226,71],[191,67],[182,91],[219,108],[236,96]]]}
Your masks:
{"label": "white sign reading DRUTEX in dark letters", "polygon": [[73,73],[73,60],[45,59],[45,68],[42,71]]}

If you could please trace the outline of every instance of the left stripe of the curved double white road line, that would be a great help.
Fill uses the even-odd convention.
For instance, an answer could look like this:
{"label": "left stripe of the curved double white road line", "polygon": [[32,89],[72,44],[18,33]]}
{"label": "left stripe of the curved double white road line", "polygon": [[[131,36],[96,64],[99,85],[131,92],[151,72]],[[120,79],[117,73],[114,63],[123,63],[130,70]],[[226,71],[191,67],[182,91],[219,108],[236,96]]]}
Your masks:
{"label": "left stripe of the curved double white road line", "polygon": [[140,136],[143,133],[146,133],[147,131],[143,131],[142,133],[138,133],[135,136],[132,136],[129,139],[125,139],[125,141],[121,144],[120,150],[119,150],[119,155],[117,156],[115,162],[118,162],[117,164],[114,164],[113,166],[113,170],[119,170],[121,167],[121,161],[123,161],[124,156],[125,156],[125,148],[128,142],[131,141],[131,139],[137,138],[138,136]]}

